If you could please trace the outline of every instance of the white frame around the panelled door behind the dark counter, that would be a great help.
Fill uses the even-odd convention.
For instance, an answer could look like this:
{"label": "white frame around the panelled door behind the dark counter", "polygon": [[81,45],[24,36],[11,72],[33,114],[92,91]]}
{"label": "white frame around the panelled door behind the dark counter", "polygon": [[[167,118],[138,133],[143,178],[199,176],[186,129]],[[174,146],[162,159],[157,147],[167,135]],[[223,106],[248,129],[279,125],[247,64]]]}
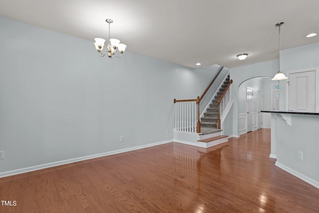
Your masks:
{"label": "white frame around the panelled door behind the dark counter", "polygon": [[316,74],[316,81],[315,81],[315,87],[316,87],[315,104],[316,104],[316,106],[315,106],[315,109],[316,109],[316,112],[319,111],[319,90],[318,90],[319,89],[319,67],[293,70],[293,71],[286,72],[286,75],[288,77],[288,79],[286,80],[286,110],[288,110],[288,105],[289,105],[289,75],[299,73],[299,72],[310,72],[310,71],[315,71],[315,74]]}

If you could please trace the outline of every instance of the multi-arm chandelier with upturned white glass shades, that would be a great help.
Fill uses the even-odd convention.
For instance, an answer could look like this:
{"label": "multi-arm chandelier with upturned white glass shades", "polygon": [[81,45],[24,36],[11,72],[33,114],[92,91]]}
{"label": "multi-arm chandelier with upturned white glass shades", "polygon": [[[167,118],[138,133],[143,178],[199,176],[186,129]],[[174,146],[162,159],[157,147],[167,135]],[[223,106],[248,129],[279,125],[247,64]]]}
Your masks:
{"label": "multi-arm chandelier with upturned white glass shades", "polygon": [[[105,42],[105,39],[103,38],[94,38],[95,40],[95,48],[96,50],[98,50],[99,52],[99,55],[101,57],[103,57],[104,55],[106,55],[106,52],[108,52],[108,56],[109,58],[113,58],[113,55],[115,55],[116,57],[121,57],[123,52],[125,51],[125,48],[126,48],[126,45],[123,44],[123,43],[120,43],[120,40],[119,39],[116,39],[116,38],[111,38],[111,34],[110,34],[110,24],[113,23],[113,20],[108,18],[105,20],[107,23],[109,23],[109,43],[108,43],[108,46],[107,46],[107,49],[105,50],[104,53],[102,53],[102,49],[103,49],[103,46],[104,46],[104,42]],[[119,52],[121,53],[120,56],[117,56],[115,54],[115,51],[116,49],[119,50]]]}

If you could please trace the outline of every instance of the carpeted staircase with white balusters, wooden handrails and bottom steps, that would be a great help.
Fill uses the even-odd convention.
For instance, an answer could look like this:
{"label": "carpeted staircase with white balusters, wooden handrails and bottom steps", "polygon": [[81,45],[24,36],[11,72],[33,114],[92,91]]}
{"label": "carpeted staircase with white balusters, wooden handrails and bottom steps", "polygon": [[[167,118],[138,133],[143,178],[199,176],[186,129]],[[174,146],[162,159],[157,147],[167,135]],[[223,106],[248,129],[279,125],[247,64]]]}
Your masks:
{"label": "carpeted staircase with white balusters, wooden handrails and bottom steps", "polygon": [[[216,76],[218,76],[218,74]],[[216,79],[216,76],[214,80]],[[218,85],[220,85],[219,89],[215,92],[210,103],[207,104],[202,115],[199,115],[199,102],[214,80],[208,86],[201,98],[197,97],[197,99],[188,100],[174,99],[176,114],[175,129],[173,131],[174,142],[208,148],[228,141],[228,136],[222,134],[223,130],[220,126],[232,105],[230,100],[231,89],[229,87],[232,80],[229,78],[229,72],[224,76],[226,77],[218,81]],[[222,95],[223,97],[221,98]],[[218,101],[220,102],[219,104]]]}

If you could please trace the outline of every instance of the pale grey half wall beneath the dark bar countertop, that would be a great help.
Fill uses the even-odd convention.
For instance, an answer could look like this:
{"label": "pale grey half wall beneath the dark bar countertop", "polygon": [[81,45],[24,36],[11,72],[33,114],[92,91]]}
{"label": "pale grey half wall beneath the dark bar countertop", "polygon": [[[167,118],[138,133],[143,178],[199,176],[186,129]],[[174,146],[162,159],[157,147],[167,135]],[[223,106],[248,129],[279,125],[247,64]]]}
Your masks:
{"label": "pale grey half wall beneath the dark bar countertop", "polygon": [[[319,188],[319,117],[293,114],[288,126],[281,114],[272,113],[273,124],[276,129],[272,128],[272,146],[276,148],[272,152],[277,154],[276,165]],[[299,151],[303,160],[298,158]]]}

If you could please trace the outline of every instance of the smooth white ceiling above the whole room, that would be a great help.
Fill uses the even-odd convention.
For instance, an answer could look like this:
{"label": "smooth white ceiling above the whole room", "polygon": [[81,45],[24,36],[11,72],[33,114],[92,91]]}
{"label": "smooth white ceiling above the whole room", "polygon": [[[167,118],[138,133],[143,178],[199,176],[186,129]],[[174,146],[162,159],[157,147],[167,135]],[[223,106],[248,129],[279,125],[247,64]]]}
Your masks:
{"label": "smooth white ceiling above the whole room", "polygon": [[306,38],[319,32],[319,0],[0,0],[0,15],[92,40],[94,51],[112,18],[127,51],[193,68],[277,59],[281,21],[281,49],[319,42]]}

